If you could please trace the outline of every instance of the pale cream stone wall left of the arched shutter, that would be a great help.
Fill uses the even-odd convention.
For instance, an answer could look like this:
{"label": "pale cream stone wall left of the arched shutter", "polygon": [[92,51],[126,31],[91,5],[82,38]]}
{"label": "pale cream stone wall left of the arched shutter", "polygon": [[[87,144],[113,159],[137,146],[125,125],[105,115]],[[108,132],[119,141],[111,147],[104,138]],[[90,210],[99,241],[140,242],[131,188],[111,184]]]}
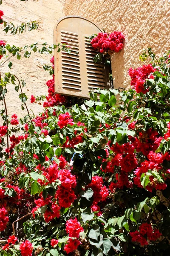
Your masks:
{"label": "pale cream stone wall left of the arched shutter", "polygon": [[[28,2],[20,2],[20,0],[3,0],[3,4],[0,6],[3,10],[3,19],[14,24],[20,24],[28,20],[37,20],[40,22],[39,29],[37,31],[26,32],[23,34],[5,35],[3,31],[3,25],[0,25],[0,40],[5,40],[10,45],[24,47],[39,41],[48,44],[53,44],[53,29],[54,23],[63,16],[61,0],[28,0]],[[52,56],[52,55],[51,55]],[[50,76],[42,66],[44,63],[50,63],[49,55],[40,55],[40,53],[32,53],[31,57],[26,59],[21,58],[20,61],[16,57],[12,57],[13,67],[11,73],[18,76],[19,79],[26,81],[26,87],[23,91],[28,96],[28,108],[31,108],[35,113],[42,110],[42,106],[38,104],[30,103],[30,96],[47,94],[46,81],[50,79]],[[8,63],[8,62],[7,62]],[[10,70],[9,70],[10,71]],[[9,72],[8,64],[1,67],[1,72]],[[23,115],[20,109],[20,99],[18,93],[14,91],[14,86],[10,84],[8,86],[8,94],[6,99],[8,114],[17,113],[18,116]],[[26,113],[26,112],[25,112]],[[1,122],[0,122],[1,123]]]}

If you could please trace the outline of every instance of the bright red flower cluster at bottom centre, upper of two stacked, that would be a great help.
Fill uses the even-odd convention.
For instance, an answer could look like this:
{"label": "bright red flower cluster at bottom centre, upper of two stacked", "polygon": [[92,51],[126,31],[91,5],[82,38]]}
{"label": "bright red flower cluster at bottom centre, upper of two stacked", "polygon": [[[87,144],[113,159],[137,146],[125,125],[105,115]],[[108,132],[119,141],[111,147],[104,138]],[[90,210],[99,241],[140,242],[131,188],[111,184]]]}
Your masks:
{"label": "bright red flower cluster at bottom centre, upper of two stacked", "polygon": [[79,233],[84,231],[84,229],[81,227],[81,224],[79,221],[77,221],[77,218],[70,219],[66,221],[66,232],[68,233],[69,237],[73,238],[79,238]]}

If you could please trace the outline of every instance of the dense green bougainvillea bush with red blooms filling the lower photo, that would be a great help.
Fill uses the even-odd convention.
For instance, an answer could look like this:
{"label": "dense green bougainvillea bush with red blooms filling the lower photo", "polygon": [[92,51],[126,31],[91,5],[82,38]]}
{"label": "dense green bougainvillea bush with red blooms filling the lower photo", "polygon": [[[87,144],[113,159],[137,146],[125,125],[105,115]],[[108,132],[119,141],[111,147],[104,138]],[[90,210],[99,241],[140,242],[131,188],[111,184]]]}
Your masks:
{"label": "dense green bougainvillea bush with red blooms filling the lower photo", "polygon": [[[22,51],[0,42],[0,55]],[[39,51],[54,47],[65,48]],[[130,68],[130,90],[96,90],[69,107],[45,66],[53,79],[43,113],[19,120],[1,111],[0,255],[169,255],[170,55],[147,49],[140,58],[148,56]],[[11,73],[0,100],[7,83],[27,108],[25,82]]]}

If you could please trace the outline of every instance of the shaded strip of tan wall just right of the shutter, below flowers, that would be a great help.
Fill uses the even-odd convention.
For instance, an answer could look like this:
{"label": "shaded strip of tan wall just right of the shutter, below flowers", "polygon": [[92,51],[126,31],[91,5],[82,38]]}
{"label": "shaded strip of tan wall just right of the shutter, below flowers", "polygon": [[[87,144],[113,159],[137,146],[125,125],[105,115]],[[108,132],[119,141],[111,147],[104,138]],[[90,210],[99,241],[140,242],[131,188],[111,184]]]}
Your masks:
{"label": "shaded strip of tan wall just right of the shutter, below flowers", "polygon": [[120,52],[114,52],[111,55],[111,67],[112,67],[112,76],[113,76],[113,87],[114,88],[125,88],[124,84],[124,69],[125,69],[125,57],[124,49]]}

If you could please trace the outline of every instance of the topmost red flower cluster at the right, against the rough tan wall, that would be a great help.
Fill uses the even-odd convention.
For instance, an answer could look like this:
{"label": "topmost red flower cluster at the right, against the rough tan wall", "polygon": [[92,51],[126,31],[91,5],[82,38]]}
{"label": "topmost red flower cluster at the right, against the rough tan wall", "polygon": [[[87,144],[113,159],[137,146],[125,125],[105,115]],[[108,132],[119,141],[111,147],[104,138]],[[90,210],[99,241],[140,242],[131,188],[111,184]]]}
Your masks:
{"label": "topmost red flower cluster at the right, against the rough tan wall", "polygon": [[137,93],[147,93],[149,88],[144,88],[144,83],[148,78],[154,78],[153,75],[149,77],[151,73],[153,73],[155,69],[152,67],[151,64],[143,65],[142,67],[138,67],[134,69],[130,67],[129,69],[129,76],[131,77],[130,85],[135,88]]}

